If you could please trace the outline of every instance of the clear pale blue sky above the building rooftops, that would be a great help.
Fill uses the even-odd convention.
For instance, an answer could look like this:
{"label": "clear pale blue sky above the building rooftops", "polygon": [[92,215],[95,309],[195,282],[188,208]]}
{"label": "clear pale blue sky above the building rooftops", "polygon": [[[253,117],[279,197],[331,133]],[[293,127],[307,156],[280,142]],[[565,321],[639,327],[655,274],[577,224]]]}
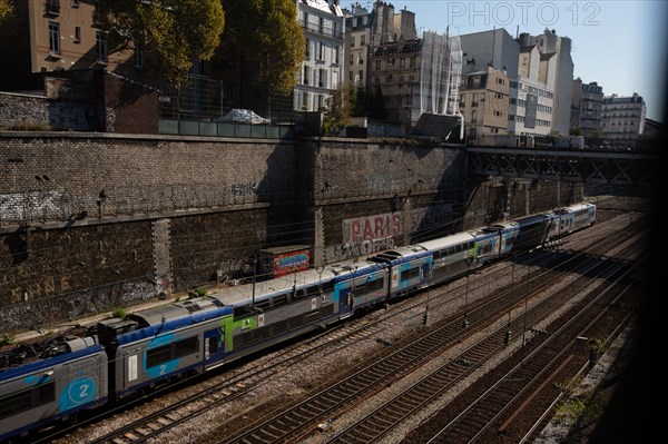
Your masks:
{"label": "clear pale blue sky above the building rooftops", "polygon": [[[372,1],[360,1],[371,6]],[[386,0],[387,1],[387,0]],[[419,33],[424,30],[463,36],[504,28],[515,37],[547,29],[572,41],[573,78],[598,82],[603,95],[638,92],[647,117],[664,122],[668,50],[666,0],[508,0],[445,1],[391,0],[395,12],[415,12]],[[353,3],[352,1],[350,3]],[[342,1],[343,7],[348,2]]]}

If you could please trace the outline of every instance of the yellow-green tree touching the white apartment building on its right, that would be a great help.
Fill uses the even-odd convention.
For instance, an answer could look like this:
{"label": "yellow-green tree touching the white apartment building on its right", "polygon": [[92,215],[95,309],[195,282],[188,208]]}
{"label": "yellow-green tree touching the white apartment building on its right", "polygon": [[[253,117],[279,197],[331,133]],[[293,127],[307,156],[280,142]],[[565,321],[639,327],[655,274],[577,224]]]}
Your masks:
{"label": "yellow-green tree touching the white apartment building on its right", "polygon": [[[272,95],[287,96],[306,58],[306,39],[293,0],[227,0],[230,39],[255,65],[257,81]],[[271,102],[269,102],[271,106]]]}

